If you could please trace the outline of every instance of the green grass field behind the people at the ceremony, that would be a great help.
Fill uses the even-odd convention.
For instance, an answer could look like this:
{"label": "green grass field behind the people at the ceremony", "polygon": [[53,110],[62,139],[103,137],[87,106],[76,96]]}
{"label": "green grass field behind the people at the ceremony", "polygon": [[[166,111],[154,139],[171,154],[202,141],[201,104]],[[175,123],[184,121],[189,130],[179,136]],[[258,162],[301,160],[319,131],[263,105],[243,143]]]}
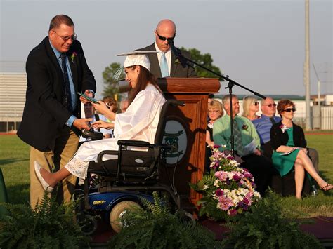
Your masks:
{"label": "green grass field behind the people at the ceremony", "polygon": [[[319,169],[322,177],[333,182],[333,133],[315,132],[306,134],[308,147],[319,152]],[[29,201],[29,149],[15,135],[0,135],[0,168],[2,169],[8,199],[10,203],[27,203]],[[333,191],[309,196],[298,201],[294,197],[281,198],[283,206],[294,210],[305,217],[329,216],[333,217]]]}

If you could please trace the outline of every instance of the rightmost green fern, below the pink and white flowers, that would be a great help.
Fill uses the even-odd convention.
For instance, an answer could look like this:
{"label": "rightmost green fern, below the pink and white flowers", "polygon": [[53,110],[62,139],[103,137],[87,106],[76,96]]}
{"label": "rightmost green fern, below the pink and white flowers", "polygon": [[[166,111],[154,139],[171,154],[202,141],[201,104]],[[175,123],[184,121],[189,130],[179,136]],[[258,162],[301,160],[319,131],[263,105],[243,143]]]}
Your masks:
{"label": "rightmost green fern, below the pink and white flowers", "polygon": [[[322,248],[315,236],[299,229],[300,221],[282,214],[276,194],[266,198],[245,213],[237,223],[225,224],[231,229],[223,245],[234,248]],[[288,218],[287,218],[288,217]]]}

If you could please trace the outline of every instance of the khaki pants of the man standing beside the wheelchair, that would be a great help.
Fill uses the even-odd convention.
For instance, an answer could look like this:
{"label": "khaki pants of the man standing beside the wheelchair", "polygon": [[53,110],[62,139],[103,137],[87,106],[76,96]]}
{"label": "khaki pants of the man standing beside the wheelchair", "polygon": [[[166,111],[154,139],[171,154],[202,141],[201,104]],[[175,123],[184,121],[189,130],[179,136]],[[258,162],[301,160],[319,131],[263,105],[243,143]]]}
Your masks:
{"label": "khaki pants of the man standing beside the wheelchair", "polygon": [[[70,161],[79,144],[79,137],[71,130],[69,133],[63,133],[55,139],[54,151],[41,152],[34,147],[30,147],[30,205],[35,208],[37,202],[40,203],[44,195],[44,189],[34,172],[34,161],[50,172],[63,168]],[[65,203],[70,202],[74,191],[77,177],[70,175],[63,182],[58,184],[57,201]],[[53,193],[52,193],[53,194]]]}

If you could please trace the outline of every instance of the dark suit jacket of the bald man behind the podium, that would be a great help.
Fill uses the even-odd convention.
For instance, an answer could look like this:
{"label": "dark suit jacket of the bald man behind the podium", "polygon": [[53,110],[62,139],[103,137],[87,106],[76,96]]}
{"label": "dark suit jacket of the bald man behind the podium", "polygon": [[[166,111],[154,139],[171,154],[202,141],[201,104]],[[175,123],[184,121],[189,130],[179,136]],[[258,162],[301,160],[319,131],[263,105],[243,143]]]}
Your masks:
{"label": "dark suit jacket of the bald man behind the podium", "polygon": [[[145,48],[139,48],[137,51],[156,51],[155,43],[147,46]],[[181,51],[182,55],[186,58],[190,59],[190,53],[186,51]],[[161,68],[159,67],[159,62],[156,53],[148,54],[148,58],[150,61],[150,72],[154,74],[157,78],[161,78]],[[195,69],[193,67],[183,67],[181,63],[174,56],[174,53],[171,53],[171,77],[180,77],[180,78],[188,78],[188,77],[196,77]]]}

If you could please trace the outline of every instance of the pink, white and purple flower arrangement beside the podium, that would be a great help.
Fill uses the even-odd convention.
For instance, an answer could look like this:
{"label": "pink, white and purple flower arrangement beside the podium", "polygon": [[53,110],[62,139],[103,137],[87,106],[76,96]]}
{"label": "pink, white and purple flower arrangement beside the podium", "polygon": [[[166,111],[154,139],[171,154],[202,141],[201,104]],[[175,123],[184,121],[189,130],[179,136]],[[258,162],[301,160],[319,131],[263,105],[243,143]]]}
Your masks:
{"label": "pink, white and purple flower arrangement beside the podium", "polygon": [[220,152],[219,146],[212,148],[210,173],[206,173],[197,184],[190,187],[202,194],[198,201],[199,215],[213,220],[237,220],[260,194],[254,191],[254,178],[245,168],[240,168],[233,156]]}

